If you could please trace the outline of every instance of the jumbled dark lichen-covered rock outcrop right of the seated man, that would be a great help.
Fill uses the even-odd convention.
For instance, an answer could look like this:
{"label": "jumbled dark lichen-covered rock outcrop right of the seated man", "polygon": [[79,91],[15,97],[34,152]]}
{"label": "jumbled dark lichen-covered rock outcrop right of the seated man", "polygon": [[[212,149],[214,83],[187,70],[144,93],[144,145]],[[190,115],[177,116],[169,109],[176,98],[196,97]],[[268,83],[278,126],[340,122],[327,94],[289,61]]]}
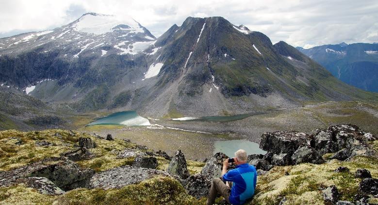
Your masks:
{"label": "jumbled dark lichen-covered rock outcrop right of the seated man", "polygon": [[264,133],[260,148],[268,153],[249,155],[248,162],[256,169],[268,171],[268,165],[296,165],[300,163],[321,164],[322,155],[334,153],[330,158],[347,160],[355,155],[377,156],[369,141],[377,137],[356,125],[335,125],[326,129],[316,129],[312,135],[295,131]]}

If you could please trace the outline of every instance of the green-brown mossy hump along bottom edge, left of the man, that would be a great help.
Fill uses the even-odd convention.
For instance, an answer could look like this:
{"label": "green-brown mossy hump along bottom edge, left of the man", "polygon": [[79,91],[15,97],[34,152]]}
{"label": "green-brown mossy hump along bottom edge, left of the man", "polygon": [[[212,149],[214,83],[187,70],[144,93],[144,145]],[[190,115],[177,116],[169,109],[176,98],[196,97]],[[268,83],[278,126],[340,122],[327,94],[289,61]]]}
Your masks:
{"label": "green-brown mossy hump along bottom edge, left of the man", "polygon": [[58,204],[130,204],[197,205],[204,204],[189,196],[181,184],[169,177],[157,177],[120,189],[75,189],[58,197]]}

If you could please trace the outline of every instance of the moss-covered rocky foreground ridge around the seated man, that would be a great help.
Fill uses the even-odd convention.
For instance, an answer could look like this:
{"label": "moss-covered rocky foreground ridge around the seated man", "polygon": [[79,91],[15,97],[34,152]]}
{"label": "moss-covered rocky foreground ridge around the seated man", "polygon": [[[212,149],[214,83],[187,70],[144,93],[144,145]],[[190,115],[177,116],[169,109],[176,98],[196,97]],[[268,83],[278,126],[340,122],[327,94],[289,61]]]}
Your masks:
{"label": "moss-covered rocky foreground ridge around the seated man", "polygon": [[[14,137],[8,137],[10,133]],[[43,144],[47,150],[62,146],[63,142],[70,147],[68,152],[79,147],[79,150],[87,149],[94,158],[78,158],[74,162],[65,156],[49,157],[25,165],[21,161],[18,168],[8,168],[0,172],[0,193],[5,194],[4,191],[16,186],[24,191],[36,190],[41,194],[38,196],[49,196],[46,200],[51,199],[51,203],[63,203],[67,197],[76,200],[76,194],[80,192],[89,194],[85,200],[93,200],[99,191],[107,196],[117,190],[140,190],[139,186],[155,188],[157,183],[156,189],[148,190],[152,191],[151,194],[158,195],[145,192],[147,195],[139,196],[140,200],[153,201],[158,200],[155,197],[170,196],[175,192],[164,191],[178,186],[175,189],[181,197],[177,196],[177,199],[186,200],[186,204],[202,204],[208,195],[211,180],[220,176],[222,161],[228,158],[225,154],[217,153],[206,161],[201,171],[189,172],[189,164],[181,151],[169,157],[162,151],[155,153],[128,140],[106,140],[73,131],[58,130],[38,134],[0,132],[0,140],[8,144],[8,147],[1,145],[1,156],[13,155],[9,153],[11,144],[14,148],[35,145],[35,139],[44,140],[46,143]],[[71,141],[66,141],[67,139]],[[113,150],[109,149],[110,147],[113,147]],[[377,137],[355,125],[335,125],[328,129],[314,130],[312,135],[294,131],[264,133],[260,147],[268,153],[248,156],[249,164],[255,165],[259,172],[254,199],[248,204],[292,204],[300,200],[302,203],[315,204],[367,204],[377,201]],[[332,159],[340,150],[348,151],[346,158]],[[106,163],[113,164],[113,167],[105,166],[106,164],[103,164],[105,167],[98,165],[100,160],[105,159]],[[123,164],[117,161],[122,161]],[[166,171],[162,169],[162,163],[168,168]],[[100,168],[96,169],[95,173],[92,168],[96,166]],[[4,169],[4,164],[0,164],[0,168]],[[229,169],[232,168],[234,166]],[[315,176],[314,173],[324,176]],[[322,177],[328,180],[322,181]],[[7,197],[4,200],[14,200],[12,194],[5,196]],[[171,202],[177,199],[170,198]],[[109,202],[110,198],[105,197],[103,200]],[[99,203],[105,201],[100,200]]]}

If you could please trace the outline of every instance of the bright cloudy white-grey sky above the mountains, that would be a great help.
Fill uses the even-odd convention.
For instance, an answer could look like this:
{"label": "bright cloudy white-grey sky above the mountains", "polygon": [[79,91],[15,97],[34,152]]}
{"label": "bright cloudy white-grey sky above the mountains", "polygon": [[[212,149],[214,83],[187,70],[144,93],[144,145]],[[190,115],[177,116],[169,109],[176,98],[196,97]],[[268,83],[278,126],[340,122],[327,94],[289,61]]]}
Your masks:
{"label": "bright cloudy white-grey sky above the mountains", "polygon": [[378,0],[0,0],[0,37],[60,27],[87,12],[129,15],[155,36],[188,16],[221,16],[273,43],[378,42]]}

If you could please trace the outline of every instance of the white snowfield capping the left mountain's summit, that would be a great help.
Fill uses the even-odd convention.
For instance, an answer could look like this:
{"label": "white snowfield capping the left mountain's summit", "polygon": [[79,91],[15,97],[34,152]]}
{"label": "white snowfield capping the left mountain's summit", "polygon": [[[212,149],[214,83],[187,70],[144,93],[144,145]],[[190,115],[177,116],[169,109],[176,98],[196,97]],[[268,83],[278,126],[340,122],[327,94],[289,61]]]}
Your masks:
{"label": "white snowfield capping the left mountain's summit", "polygon": [[113,15],[95,13],[84,14],[73,24],[73,27],[76,31],[97,35],[113,32],[115,29],[130,30],[130,32],[133,33],[144,32],[140,24],[131,17],[121,18]]}

